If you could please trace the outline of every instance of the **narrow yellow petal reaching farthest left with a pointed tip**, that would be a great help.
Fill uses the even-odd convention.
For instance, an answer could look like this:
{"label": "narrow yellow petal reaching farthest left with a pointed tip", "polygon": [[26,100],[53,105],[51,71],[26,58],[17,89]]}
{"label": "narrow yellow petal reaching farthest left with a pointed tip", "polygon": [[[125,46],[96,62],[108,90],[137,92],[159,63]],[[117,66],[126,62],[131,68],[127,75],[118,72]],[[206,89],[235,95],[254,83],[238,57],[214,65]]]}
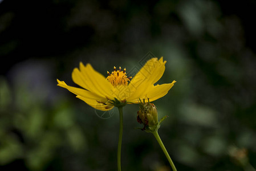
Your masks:
{"label": "narrow yellow petal reaching farthest left with a pointed tip", "polygon": [[60,82],[60,80],[58,80],[58,79],[57,79],[57,82],[59,83],[59,84],[57,84],[57,86],[66,88],[66,89],[68,89],[68,91],[74,93],[75,95],[83,96],[88,99],[92,99],[94,101],[96,101],[96,100],[100,100],[100,101],[104,101],[104,102],[108,101],[108,99],[106,99],[106,97],[96,95],[95,93],[87,91],[86,89],[67,86],[67,84],[65,82]]}

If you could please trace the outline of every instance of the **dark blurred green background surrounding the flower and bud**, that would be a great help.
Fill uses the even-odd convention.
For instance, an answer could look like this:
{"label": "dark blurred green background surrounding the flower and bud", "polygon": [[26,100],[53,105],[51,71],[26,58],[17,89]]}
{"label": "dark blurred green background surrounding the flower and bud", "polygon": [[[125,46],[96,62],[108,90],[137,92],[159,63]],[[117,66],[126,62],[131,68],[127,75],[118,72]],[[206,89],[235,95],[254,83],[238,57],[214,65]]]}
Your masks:
{"label": "dark blurred green background surrounding the flower and bud", "polygon": [[[255,11],[255,1],[0,1],[0,170],[116,170],[117,109],[95,111],[56,79],[75,86],[80,61],[133,75],[153,56],[167,61],[159,83],[177,81],[155,101],[176,168],[253,170]],[[138,109],[124,107],[123,170],[170,170],[153,135],[134,129]]]}

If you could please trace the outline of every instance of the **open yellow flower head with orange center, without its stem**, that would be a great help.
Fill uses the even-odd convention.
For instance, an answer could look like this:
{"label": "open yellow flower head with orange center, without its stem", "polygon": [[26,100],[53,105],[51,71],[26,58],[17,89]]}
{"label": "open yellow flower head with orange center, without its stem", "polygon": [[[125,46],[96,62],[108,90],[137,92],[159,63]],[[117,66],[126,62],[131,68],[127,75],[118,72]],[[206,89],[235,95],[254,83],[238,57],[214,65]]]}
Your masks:
{"label": "open yellow flower head with orange center, without its stem", "polygon": [[68,91],[76,94],[76,97],[86,102],[91,107],[101,111],[108,111],[115,105],[126,103],[140,103],[139,99],[157,100],[168,93],[176,81],[169,84],[154,84],[162,77],[165,70],[163,59],[152,58],[141,68],[133,79],[127,77],[124,68],[109,73],[107,78],[92,68],[88,63],[86,66],[80,62],[79,69],[72,72],[72,80],[82,88],[67,86],[60,82],[58,86],[67,88]]}

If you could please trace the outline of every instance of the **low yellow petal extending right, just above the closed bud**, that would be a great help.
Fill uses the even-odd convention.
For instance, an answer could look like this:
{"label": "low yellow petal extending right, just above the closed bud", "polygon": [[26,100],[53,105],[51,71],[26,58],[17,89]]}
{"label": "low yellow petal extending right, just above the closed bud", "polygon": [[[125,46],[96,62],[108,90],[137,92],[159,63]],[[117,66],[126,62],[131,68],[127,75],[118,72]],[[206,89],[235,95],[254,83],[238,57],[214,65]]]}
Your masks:
{"label": "low yellow petal extending right, just above the closed bud", "polygon": [[175,80],[169,84],[151,86],[148,92],[144,92],[144,95],[137,97],[137,99],[129,99],[129,101],[128,100],[127,101],[131,103],[139,103],[139,98],[149,99],[149,101],[155,101],[157,99],[160,99],[162,96],[165,96],[166,93],[168,93],[168,91],[170,90],[170,88],[174,86],[174,83],[176,83]]}

